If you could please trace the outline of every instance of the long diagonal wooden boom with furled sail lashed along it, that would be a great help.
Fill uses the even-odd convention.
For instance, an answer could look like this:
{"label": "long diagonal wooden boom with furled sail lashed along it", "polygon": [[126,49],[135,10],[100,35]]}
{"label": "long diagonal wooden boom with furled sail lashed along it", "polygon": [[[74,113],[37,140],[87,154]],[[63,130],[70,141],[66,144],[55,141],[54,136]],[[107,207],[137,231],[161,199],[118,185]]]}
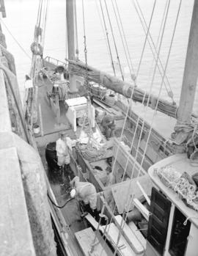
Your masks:
{"label": "long diagonal wooden boom with furled sail lashed along it", "polygon": [[[150,106],[150,108],[152,109],[155,109],[156,103],[158,101],[158,97],[156,97],[155,95],[150,95],[149,97],[149,93],[145,93],[142,89],[134,87],[133,84],[121,81],[119,78],[115,76],[110,76],[109,74],[101,72],[100,70],[97,70],[93,67],[88,66],[86,70],[86,65],[83,62],[76,62],[72,59],[69,59],[68,61],[70,63],[70,73],[76,75],[78,74],[78,76],[82,77],[87,76],[86,73],[88,73],[89,81],[103,84],[104,87],[111,89],[114,92],[118,92],[121,95],[124,95],[126,98],[131,98],[131,94],[133,93],[132,100],[142,103],[142,100],[144,98],[143,104],[146,106],[147,101],[149,100],[148,106]],[[176,118],[177,106],[169,103],[169,101],[167,100],[160,99],[158,101],[157,110],[169,115],[170,117]]]}

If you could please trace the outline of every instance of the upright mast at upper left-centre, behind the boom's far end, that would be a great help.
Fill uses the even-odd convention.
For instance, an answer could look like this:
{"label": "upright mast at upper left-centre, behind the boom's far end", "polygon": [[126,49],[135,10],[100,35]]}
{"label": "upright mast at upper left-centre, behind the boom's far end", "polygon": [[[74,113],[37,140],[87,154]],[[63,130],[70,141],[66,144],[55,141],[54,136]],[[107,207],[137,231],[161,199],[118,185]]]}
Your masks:
{"label": "upright mast at upper left-centre, behind the boom's far end", "polygon": [[[68,59],[76,60],[75,56],[75,29],[74,29],[74,1],[66,0],[66,20],[67,20],[67,48]],[[70,65],[70,64],[69,64]],[[70,91],[75,92],[76,89],[76,76],[69,75]]]}

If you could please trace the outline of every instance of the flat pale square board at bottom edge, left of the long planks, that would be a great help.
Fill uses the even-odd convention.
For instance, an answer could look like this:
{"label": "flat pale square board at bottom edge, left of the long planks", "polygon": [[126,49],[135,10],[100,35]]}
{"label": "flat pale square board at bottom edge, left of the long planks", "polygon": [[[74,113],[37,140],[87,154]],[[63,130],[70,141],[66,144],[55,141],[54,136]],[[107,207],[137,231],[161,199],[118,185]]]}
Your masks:
{"label": "flat pale square board at bottom edge, left of the long planks", "polygon": [[[78,241],[78,244],[81,246],[82,251],[84,252],[85,256],[111,256],[113,253],[103,241],[103,238],[101,237],[100,233],[94,232],[91,227],[81,230],[75,233],[76,239]],[[95,239],[96,235],[96,239]],[[95,239],[95,246],[92,249],[92,243]]]}

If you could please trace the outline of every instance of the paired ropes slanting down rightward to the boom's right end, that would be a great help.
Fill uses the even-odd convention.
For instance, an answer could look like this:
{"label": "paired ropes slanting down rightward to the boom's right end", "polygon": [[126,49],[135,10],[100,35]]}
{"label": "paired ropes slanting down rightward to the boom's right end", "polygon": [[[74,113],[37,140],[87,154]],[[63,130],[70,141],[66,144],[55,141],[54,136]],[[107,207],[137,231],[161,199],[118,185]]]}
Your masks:
{"label": "paired ropes slanting down rightward to the boom's right end", "polygon": [[[136,1],[136,4],[139,6],[138,1]],[[166,3],[166,5],[167,5],[167,3]],[[139,12],[138,12],[136,6],[135,6],[135,8],[136,8],[136,12],[137,12],[137,14],[138,14],[138,16],[139,16],[139,19],[140,19],[140,21],[141,21],[141,23],[142,23],[142,28],[144,29],[144,33],[146,33],[146,30],[147,30],[147,23],[146,23],[146,21],[145,21],[144,14],[143,14],[143,12],[142,12],[142,10],[141,10],[141,7],[139,6],[139,11],[140,11],[140,13],[141,13],[141,15],[142,15],[142,18],[141,18],[141,16],[139,15]],[[143,19],[144,23],[143,23],[142,19]],[[145,26],[145,28],[144,28],[144,26]],[[151,45],[151,43],[150,43],[150,40],[148,40],[148,43],[149,43],[149,45],[150,45],[150,49],[151,49],[151,51],[152,51],[153,58],[154,58],[155,61],[156,61],[155,54],[157,54],[157,49],[156,49],[156,47],[155,47],[155,43],[153,42],[153,37],[151,36],[150,33],[149,33],[149,37],[150,37],[150,40],[151,40],[151,43],[152,43],[153,47],[152,47],[152,45]],[[154,48],[155,53],[153,52],[153,48]],[[159,64],[160,64],[160,67],[161,67],[162,71],[164,72],[164,67],[163,67],[163,65],[162,65],[161,59],[159,58],[158,61],[159,61]],[[158,65],[158,71],[159,71],[159,73],[161,74],[161,77],[162,77],[162,71],[160,70],[160,67],[159,67],[159,65]],[[171,86],[170,86],[170,84],[169,84],[169,79],[167,78],[167,76],[166,76],[166,82],[167,82],[167,84],[168,84],[168,86],[169,86],[170,92],[172,92],[172,88],[171,88]],[[166,88],[167,94],[169,95],[170,98],[172,98],[173,103],[175,103],[175,101],[173,100],[173,97],[172,97],[172,94],[173,94],[173,93],[172,93],[172,94],[169,93],[169,91],[168,91],[168,89],[167,89],[167,87],[166,87],[165,81],[164,81],[164,86],[165,86],[165,88]]]}

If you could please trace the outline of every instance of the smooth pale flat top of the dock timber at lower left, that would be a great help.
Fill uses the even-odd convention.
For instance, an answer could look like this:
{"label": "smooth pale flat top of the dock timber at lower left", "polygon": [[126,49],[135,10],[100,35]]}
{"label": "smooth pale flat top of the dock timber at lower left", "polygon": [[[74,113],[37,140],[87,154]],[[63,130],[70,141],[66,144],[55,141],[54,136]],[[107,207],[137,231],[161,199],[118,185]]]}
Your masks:
{"label": "smooth pale flat top of the dock timber at lower left", "polygon": [[15,147],[0,150],[1,255],[35,255]]}

